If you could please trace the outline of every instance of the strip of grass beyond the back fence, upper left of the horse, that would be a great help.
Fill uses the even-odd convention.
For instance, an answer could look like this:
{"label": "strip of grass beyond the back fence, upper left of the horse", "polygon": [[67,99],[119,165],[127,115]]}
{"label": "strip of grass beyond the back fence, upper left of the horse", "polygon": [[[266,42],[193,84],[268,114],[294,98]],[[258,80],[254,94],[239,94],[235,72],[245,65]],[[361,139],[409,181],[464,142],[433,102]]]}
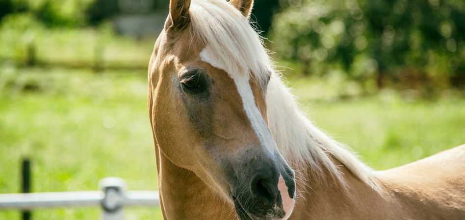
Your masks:
{"label": "strip of grass beyond the back fence, upper left of the horse", "polygon": [[0,61],[26,66],[146,68],[155,40],[155,36],[117,35],[109,23],[47,29],[30,14],[12,14],[0,23]]}

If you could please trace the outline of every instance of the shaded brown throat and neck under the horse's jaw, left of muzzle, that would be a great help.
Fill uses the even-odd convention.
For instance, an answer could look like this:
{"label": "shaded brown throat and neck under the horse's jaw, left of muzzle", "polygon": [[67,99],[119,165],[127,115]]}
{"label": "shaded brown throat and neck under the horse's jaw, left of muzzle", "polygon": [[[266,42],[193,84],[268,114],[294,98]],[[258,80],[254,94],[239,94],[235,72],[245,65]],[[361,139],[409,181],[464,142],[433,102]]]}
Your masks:
{"label": "shaded brown throat and neck under the horse's jaw, left of muzzle", "polygon": [[164,219],[236,219],[232,205],[190,170],[155,149],[160,207]]}

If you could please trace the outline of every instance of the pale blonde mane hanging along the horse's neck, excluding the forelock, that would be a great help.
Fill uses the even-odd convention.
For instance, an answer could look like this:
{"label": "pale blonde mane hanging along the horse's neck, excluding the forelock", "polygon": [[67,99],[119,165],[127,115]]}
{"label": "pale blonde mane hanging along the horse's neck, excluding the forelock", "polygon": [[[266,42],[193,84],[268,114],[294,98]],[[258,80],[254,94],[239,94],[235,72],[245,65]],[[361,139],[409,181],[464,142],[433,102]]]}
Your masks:
{"label": "pale blonde mane hanging along the horse's neck, excluding the forelock", "polygon": [[270,80],[266,102],[267,119],[278,149],[289,165],[310,164],[317,171],[326,169],[337,180],[343,181],[331,157],[344,164],[363,182],[376,187],[372,171],[342,144],[330,138],[302,114],[294,96],[278,77]]}

